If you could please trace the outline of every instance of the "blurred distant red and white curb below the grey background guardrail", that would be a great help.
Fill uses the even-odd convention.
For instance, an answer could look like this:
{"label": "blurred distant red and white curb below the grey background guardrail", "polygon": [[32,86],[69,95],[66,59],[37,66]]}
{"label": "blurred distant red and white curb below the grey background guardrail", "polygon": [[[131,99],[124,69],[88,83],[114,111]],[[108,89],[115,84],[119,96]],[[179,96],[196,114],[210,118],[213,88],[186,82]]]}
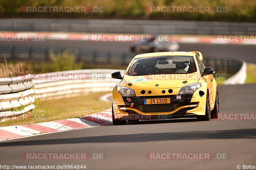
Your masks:
{"label": "blurred distant red and white curb below the grey background guardrail", "polygon": [[[107,35],[107,34],[88,34],[88,33],[43,33],[43,32],[2,32],[0,33],[0,36],[2,35],[31,35],[31,36],[45,36],[46,39],[49,40],[80,40],[80,41],[89,41],[88,37],[91,35]],[[112,34],[111,34],[112,35]],[[117,35],[117,34],[116,34]],[[124,35],[124,34],[122,34]],[[129,35],[129,34],[127,34]],[[138,35],[144,35],[144,34],[138,34]],[[214,36],[212,37],[176,37],[172,36],[173,41],[177,41],[179,43],[201,43],[201,44],[240,44],[240,45],[256,45],[256,41],[216,41],[214,40]],[[2,40],[1,40],[2,41]],[[113,40],[114,42],[114,40]],[[121,42],[121,41],[120,41]]]}

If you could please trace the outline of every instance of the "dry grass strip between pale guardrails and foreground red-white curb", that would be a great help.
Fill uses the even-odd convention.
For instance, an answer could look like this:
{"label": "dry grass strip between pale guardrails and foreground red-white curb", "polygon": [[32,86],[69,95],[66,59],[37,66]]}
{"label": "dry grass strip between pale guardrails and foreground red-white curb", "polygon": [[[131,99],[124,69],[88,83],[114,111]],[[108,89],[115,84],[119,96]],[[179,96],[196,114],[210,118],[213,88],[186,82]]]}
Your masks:
{"label": "dry grass strip between pale guardrails and foreground red-white curb", "polygon": [[84,115],[102,112],[111,107],[110,102],[99,100],[100,96],[107,93],[109,92],[94,92],[61,100],[36,100],[34,103],[36,108],[30,112],[29,116],[0,122],[0,127],[79,118]]}

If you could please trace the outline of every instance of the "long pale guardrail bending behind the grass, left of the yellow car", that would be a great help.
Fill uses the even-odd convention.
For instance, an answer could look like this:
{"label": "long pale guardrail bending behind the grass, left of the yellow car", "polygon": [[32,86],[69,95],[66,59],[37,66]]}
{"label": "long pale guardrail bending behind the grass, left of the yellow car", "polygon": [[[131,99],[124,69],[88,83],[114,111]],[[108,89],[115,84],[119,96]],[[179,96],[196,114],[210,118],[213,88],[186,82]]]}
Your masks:
{"label": "long pale guardrail bending behind the grass, left of the yellow car", "polygon": [[[117,70],[112,69],[86,69],[86,70],[69,70],[47,73],[44,78],[41,75],[36,75],[35,96],[40,99],[62,98],[79,96],[81,94],[88,94],[89,92],[103,92],[112,91],[117,79],[111,78],[111,73]],[[124,74],[124,70],[121,70]],[[66,79],[65,75],[80,74],[85,79]],[[57,76],[58,79],[52,77]]]}

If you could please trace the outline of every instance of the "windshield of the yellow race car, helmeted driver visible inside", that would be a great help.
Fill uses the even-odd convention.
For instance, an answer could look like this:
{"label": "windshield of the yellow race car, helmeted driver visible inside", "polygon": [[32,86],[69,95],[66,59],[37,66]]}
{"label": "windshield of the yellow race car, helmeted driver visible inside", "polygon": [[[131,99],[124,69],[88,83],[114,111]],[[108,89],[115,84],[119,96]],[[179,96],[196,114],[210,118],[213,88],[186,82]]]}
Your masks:
{"label": "windshield of the yellow race car, helmeted driver visible inside", "polygon": [[134,59],[129,76],[144,76],[151,74],[188,74],[196,72],[193,56],[154,56]]}

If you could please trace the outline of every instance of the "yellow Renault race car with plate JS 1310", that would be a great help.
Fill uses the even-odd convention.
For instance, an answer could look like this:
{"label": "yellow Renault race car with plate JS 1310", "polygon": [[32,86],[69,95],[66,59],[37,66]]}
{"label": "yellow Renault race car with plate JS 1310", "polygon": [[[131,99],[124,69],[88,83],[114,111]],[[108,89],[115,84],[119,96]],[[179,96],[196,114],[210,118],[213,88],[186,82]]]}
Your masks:
{"label": "yellow Renault race car with plate JS 1310", "polygon": [[136,55],[113,89],[114,125],[139,120],[217,118],[219,95],[214,69],[204,67],[201,52],[159,52]]}

